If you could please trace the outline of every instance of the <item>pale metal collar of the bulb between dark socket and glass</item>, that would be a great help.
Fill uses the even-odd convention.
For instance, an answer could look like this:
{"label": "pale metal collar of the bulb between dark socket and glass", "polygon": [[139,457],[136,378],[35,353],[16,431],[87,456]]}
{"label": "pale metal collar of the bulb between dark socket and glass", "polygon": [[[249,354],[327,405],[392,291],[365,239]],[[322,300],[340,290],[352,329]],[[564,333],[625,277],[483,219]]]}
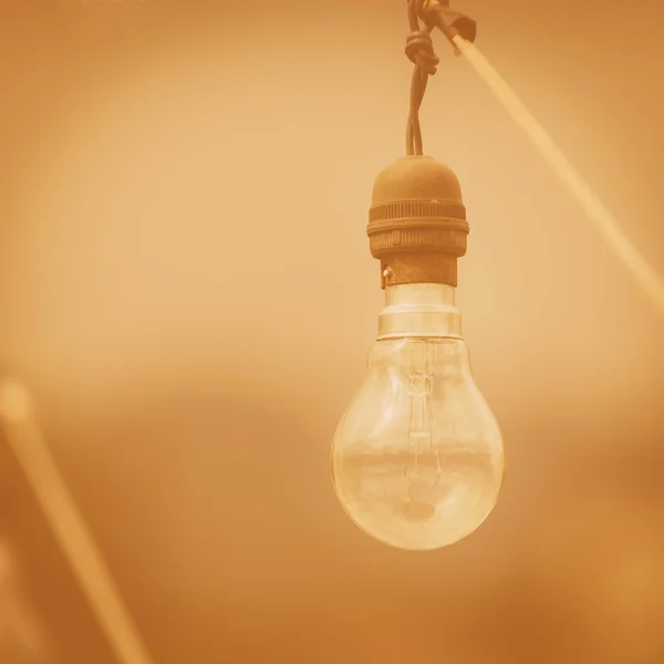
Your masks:
{"label": "pale metal collar of the bulb between dark socket and glass", "polygon": [[383,339],[463,339],[456,289],[444,283],[402,283],[385,287],[385,307],[378,314]]}

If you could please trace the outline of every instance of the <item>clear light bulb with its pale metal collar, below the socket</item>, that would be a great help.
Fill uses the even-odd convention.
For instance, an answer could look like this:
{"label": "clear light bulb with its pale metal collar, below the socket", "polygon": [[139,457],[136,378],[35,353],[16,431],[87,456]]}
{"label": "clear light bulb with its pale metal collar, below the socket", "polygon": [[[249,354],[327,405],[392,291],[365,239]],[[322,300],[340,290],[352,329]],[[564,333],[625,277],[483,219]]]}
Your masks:
{"label": "clear light bulb with its pale metal collar, below the socket", "polygon": [[494,509],[504,454],[473,380],[455,289],[392,286],[366,376],[332,446],[334,486],[351,519],[401,549],[438,549]]}

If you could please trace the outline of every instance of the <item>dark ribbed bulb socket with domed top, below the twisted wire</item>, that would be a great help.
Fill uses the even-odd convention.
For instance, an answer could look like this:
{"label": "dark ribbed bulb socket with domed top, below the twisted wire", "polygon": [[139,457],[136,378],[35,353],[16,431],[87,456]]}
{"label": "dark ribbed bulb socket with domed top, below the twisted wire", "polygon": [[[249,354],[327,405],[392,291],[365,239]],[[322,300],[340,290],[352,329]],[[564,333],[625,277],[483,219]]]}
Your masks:
{"label": "dark ribbed bulb socket with domed top, below the twisted wire", "polygon": [[457,286],[469,225],[450,168],[432,157],[397,159],[376,178],[366,235],[381,261],[381,287]]}

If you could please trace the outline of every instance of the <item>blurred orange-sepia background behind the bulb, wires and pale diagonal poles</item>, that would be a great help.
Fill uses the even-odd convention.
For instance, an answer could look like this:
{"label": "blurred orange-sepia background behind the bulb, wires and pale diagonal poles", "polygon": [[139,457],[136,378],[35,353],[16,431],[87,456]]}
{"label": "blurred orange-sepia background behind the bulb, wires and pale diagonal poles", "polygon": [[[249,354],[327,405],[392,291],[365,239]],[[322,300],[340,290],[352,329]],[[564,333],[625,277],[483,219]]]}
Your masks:
{"label": "blurred orange-sepia background behind the bulb, wires and pale diagonal poles", "polygon": [[[664,272],[664,8],[456,7]],[[661,664],[664,319],[439,34],[425,152],[505,487],[427,553],[338,505],[407,32],[405,0],[2,0],[0,362],[159,664]],[[0,662],[113,662],[2,440]]]}

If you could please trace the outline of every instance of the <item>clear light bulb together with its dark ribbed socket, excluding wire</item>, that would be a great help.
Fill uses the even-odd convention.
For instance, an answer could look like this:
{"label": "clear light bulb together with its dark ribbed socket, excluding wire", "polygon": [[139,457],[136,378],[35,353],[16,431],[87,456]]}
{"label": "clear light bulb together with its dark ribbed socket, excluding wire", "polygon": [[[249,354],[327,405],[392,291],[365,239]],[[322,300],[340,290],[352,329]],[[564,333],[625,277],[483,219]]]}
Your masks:
{"label": "clear light bulb together with its dark ribbed socket, excluding wire", "polygon": [[502,480],[500,432],[473,380],[455,307],[467,234],[447,166],[408,156],[378,175],[367,235],[385,308],[332,466],[351,519],[402,549],[437,549],[473,532]]}

